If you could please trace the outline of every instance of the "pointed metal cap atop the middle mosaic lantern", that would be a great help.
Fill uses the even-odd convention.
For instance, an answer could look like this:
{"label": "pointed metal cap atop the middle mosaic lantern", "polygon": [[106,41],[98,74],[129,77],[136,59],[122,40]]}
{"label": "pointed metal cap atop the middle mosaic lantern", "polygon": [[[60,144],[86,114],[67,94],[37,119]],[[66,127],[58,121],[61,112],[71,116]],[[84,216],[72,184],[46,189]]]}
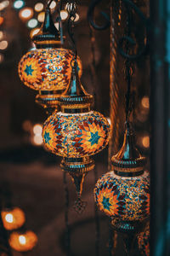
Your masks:
{"label": "pointed metal cap atop the middle mosaic lantern", "polygon": [[65,92],[60,96],[59,103],[64,113],[84,113],[91,110],[93,96],[84,90],[78,73],[77,61],[71,70],[71,81]]}

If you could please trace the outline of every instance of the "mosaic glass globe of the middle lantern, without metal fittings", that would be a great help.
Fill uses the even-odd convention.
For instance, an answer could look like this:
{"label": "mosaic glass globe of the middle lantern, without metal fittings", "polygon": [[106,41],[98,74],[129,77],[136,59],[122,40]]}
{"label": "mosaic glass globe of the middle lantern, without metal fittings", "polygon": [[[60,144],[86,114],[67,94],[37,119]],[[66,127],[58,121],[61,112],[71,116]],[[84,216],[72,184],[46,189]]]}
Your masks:
{"label": "mosaic glass globe of the middle lantern, without metal fittings", "polygon": [[54,112],[43,125],[45,146],[63,157],[97,154],[110,138],[110,125],[98,112],[65,114]]}

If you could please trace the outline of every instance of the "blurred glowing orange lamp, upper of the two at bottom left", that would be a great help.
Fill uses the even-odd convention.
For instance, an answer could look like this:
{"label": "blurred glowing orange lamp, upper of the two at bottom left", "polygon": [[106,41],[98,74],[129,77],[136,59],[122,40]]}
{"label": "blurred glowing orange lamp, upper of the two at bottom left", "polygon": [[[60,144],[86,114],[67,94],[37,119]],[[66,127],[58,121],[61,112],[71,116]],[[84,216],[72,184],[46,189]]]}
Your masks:
{"label": "blurred glowing orange lamp, upper of the two at bottom left", "polygon": [[25,213],[18,207],[3,210],[1,216],[6,230],[19,229],[26,221]]}

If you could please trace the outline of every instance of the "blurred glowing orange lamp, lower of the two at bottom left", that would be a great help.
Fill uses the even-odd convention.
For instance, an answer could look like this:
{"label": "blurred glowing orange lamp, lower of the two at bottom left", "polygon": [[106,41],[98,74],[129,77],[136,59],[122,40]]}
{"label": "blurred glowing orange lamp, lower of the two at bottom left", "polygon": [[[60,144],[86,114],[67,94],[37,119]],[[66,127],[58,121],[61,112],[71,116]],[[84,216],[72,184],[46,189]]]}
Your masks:
{"label": "blurred glowing orange lamp, lower of the two at bottom left", "polygon": [[13,232],[9,236],[9,245],[15,251],[27,252],[31,251],[37,244],[37,236],[34,232],[28,230],[26,232]]}

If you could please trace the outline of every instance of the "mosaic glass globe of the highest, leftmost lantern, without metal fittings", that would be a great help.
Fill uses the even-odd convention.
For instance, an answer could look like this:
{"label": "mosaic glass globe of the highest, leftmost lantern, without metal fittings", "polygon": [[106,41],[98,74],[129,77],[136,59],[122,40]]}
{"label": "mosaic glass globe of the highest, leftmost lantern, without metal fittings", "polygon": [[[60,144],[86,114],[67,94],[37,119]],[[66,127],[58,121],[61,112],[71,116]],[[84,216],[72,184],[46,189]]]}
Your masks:
{"label": "mosaic glass globe of the highest, leftmost lantern, without metal fittings", "polygon": [[[72,51],[69,49],[34,49],[19,63],[21,81],[33,90],[65,90],[71,79]],[[82,63],[77,59],[79,75]]]}

